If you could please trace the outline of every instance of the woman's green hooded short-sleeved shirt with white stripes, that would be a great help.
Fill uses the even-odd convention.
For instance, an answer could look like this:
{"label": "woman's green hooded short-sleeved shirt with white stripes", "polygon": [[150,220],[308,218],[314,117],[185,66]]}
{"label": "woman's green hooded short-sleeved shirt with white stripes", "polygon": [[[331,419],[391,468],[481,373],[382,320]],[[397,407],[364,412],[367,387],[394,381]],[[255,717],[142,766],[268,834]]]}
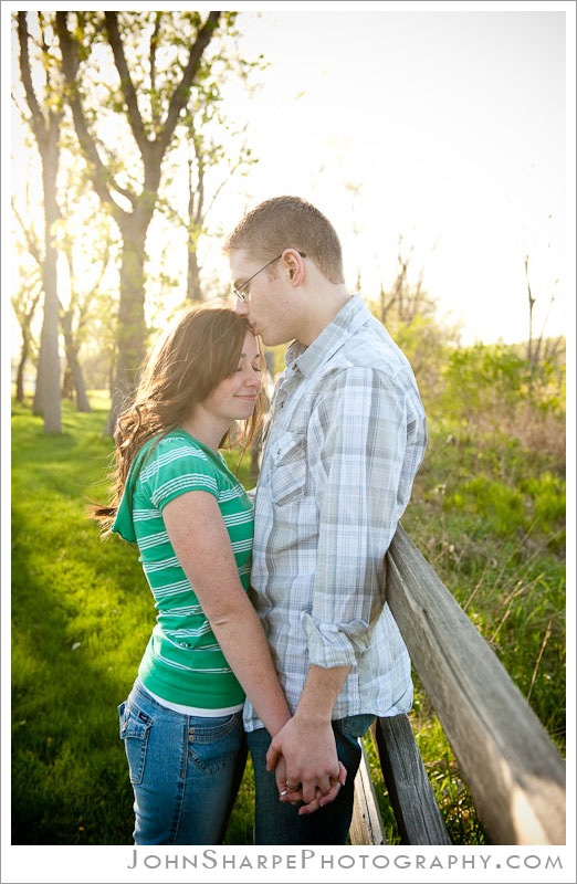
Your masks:
{"label": "woman's green hooded short-sleeved shirt with white stripes", "polygon": [[[228,665],[168,538],[162,508],[190,491],[213,494],[239,569],[249,588],[252,502],[220,452],[183,430],[150,440],[133,463],[113,530],[136,543],[157,610],[138,675],[170,703],[221,709],[243,703],[244,692]],[[202,525],[197,529],[202,530]]]}

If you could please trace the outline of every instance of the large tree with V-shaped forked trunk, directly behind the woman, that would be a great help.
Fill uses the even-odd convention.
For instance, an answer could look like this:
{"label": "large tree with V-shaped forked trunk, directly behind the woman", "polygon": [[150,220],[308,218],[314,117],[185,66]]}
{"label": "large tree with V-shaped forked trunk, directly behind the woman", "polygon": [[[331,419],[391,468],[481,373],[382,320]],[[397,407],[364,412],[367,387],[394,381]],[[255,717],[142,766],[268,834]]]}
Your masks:
{"label": "large tree with V-shaped forked trunk, directly behind the woman", "polygon": [[[146,238],[162,160],[203,75],[220,12],[56,12],[62,70],[74,126],[103,206],[122,236],[118,351],[108,431],[144,360]],[[116,70],[95,78],[102,57]],[[92,65],[92,67],[91,67]],[[112,124],[112,125],[111,125]],[[124,124],[124,125],[123,125]],[[132,138],[126,148],[122,135]]]}

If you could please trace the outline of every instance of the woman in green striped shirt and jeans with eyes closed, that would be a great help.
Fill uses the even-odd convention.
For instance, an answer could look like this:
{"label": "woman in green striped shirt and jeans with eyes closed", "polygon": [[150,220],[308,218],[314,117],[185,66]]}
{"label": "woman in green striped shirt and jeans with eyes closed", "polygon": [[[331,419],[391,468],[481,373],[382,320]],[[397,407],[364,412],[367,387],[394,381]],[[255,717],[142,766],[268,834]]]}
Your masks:
{"label": "woman in green striped shirt and jeans with eyes closed", "polygon": [[271,734],[291,717],[246,596],[252,503],[219,451],[237,422],[250,444],[261,365],[245,319],[189,309],[119,417],[114,501],[92,512],[104,534],[137,544],[157,610],[118,707],[135,844],[221,843],[245,757],[245,694]]}

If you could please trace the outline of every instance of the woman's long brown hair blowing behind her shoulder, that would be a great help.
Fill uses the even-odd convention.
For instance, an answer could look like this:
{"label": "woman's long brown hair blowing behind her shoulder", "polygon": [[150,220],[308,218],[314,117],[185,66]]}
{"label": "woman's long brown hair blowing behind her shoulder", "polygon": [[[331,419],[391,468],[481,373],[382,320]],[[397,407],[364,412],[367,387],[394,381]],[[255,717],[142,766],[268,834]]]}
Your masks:
{"label": "woman's long brown hair blowing behind her shoulder", "polygon": [[[103,534],[109,533],[137,453],[153,436],[161,439],[181,427],[195,407],[237,370],[246,332],[250,332],[246,319],[230,307],[200,305],[189,308],[157,344],[133,400],[116,423],[111,504],[93,504],[88,511],[88,517],[101,523]],[[262,398],[245,421],[244,451],[261,418]],[[229,432],[220,445],[228,439]]]}

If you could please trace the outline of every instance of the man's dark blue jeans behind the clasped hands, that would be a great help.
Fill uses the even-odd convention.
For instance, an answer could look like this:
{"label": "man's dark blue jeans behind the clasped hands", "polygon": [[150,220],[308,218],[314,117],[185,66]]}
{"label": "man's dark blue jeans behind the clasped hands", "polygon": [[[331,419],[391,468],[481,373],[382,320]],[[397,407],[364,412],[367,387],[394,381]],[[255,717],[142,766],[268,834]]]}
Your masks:
{"label": "man's dark blue jeans behind the clasped hands", "polygon": [[266,751],[271,745],[269,732],[259,728],[246,734],[254,767],[255,844],[347,843],[353,819],[355,777],[361,756],[358,738],[367,733],[374,720],[374,715],[353,715],[333,722],[337,755],[347,769],[347,780],[331,804],[304,817],[298,815],[297,807],[279,800],[274,770],[266,771]]}

